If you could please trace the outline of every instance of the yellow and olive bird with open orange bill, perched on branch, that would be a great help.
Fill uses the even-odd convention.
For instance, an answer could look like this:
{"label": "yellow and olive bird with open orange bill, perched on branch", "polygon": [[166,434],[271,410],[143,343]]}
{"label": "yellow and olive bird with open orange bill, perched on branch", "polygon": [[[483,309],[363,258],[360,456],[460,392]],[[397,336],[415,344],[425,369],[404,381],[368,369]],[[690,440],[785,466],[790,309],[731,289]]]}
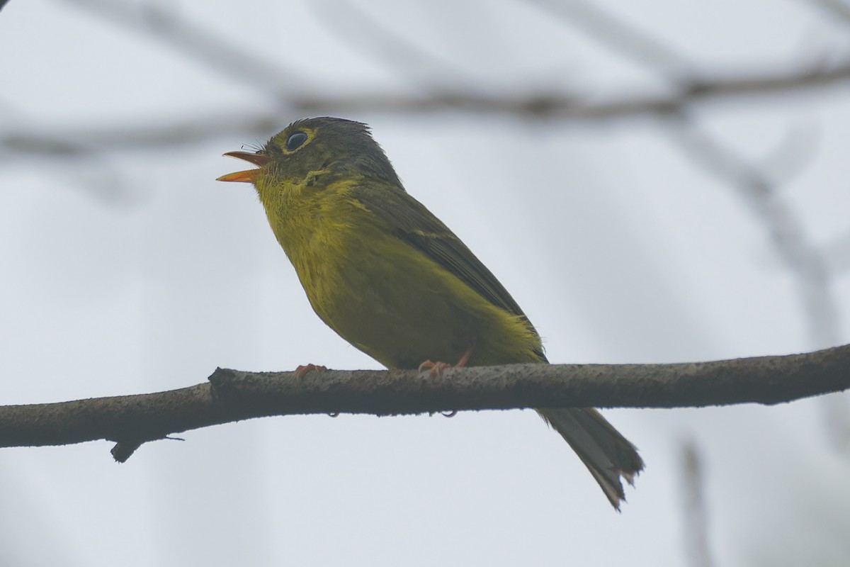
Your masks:
{"label": "yellow and olive bird with open orange bill, perched on branch", "polygon": [[[383,366],[548,363],[519,304],[405,190],[366,124],[304,118],[224,156],[257,166],[218,180],[254,185],[315,313]],[[537,412],[619,511],[621,479],[643,470],[635,446],[593,408]]]}

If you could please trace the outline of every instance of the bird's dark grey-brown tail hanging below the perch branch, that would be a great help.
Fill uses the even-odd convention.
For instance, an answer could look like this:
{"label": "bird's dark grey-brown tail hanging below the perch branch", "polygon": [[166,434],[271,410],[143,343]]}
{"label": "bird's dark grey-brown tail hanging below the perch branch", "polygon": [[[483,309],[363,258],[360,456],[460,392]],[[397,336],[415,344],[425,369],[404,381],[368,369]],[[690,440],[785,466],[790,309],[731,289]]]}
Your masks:
{"label": "bird's dark grey-brown tail hanging below the perch branch", "polygon": [[592,408],[537,413],[570,444],[619,511],[620,502],[626,500],[620,478],[633,485],[634,477],[643,470],[643,460],[635,446]]}

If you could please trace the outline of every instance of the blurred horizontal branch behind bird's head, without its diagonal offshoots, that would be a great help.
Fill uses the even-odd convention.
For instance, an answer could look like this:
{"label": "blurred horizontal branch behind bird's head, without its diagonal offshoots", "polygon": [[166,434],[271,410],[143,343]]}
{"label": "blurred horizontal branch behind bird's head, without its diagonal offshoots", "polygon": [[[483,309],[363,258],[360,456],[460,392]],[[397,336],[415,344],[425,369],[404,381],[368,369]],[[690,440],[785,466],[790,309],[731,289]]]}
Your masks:
{"label": "blurred horizontal branch behind bird's head, without its diagonal offshoots", "polygon": [[[168,149],[196,144],[207,139],[240,136],[253,139],[268,136],[284,124],[281,115],[318,116],[338,114],[432,114],[462,110],[472,114],[546,118],[549,121],[612,121],[639,116],[667,116],[686,105],[720,99],[763,97],[809,88],[819,88],[850,80],[850,60],[838,65],[798,68],[781,73],[748,77],[713,77],[693,83],[678,94],[639,94],[614,100],[570,98],[564,94],[530,94],[516,98],[491,98],[478,94],[443,92],[428,97],[373,94],[333,98],[292,95],[280,100],[283,109],[246,115],[244,109],[218,111],[214,116],[195,116],[183,122],[173,118],[150,119],[144,125],[126,124],[105,129],[54,128],[33,132],[32,128],[0,133],[0,148],[7,158],[14,154],[62,158],[94,155],[100,152]],[[3,156],[0,153],[0,156]]]}

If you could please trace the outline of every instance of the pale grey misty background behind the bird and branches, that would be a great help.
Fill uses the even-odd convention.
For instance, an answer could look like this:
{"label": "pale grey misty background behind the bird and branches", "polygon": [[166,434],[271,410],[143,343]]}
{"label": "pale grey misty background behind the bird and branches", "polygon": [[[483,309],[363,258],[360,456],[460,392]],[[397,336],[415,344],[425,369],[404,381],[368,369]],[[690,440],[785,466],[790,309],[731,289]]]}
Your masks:
{"label": "pale grey misty background behind the bird and branches", "polygon": [[[666,44],[672,67],[725,77],[847,60],[850,22],[824,4],[594,5]],[[670,90],[658,68],[536,3],[109,5],[12,0],[0,12],[0,404],[179,388],[216,366],[380,367],[313,314],[252,188],[214,181],[241,168],[224,151],[301,117],[272,93]],[[151,31],[150,9],[269,70],[217,67],[201,37]],[[693,108],[823,259],[814,291],[782,260],[766,201],[653,116],[343,116],[371,124],[411,194],[523,306],[550,360],[668,362],[850,341],[847,94],[837,82]],[[249,128],[257,116],[273,125]],[[184,123],[220,134],[121,135]],[[25,135],[91,151],[56,155]],[[697,564],[681,458],[694,439],[716,564],[844,565],[846,413],[840,397],[606,411],[647,462],[621,514],[530,411],[255,420],[144,445],[122,465],[105,442],[4,449],[0,564]]]}

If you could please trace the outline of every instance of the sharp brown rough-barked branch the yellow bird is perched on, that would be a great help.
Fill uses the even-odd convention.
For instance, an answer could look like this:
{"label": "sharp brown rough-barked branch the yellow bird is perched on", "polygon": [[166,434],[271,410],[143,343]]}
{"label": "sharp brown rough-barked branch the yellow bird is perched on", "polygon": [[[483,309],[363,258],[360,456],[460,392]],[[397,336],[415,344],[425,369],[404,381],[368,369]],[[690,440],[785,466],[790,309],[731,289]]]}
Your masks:
{"label": "sharp brown rough-barked branch the yellow bird is perched on", "polygon": [[850,345],[808,354],[663,365],[542,365],[412,370],[245,372],[156,394],[0,406],[0,447],[116,441],[139,445],[252,417],[398,415],[531,407],[701,407],[778,404],[850,388]]}

